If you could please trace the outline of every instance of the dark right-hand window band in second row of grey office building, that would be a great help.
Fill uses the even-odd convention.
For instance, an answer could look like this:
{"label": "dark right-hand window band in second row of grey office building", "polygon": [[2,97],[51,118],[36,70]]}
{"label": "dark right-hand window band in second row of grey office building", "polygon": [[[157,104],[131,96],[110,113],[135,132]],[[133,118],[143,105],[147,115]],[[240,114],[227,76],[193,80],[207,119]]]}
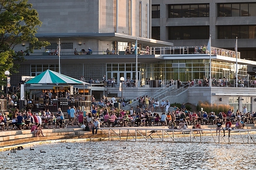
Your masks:
{"label": "dark right-hand window band in second row of grey office building", "polygon": [[218,26],[218,39],[256,39],[256,25]]}

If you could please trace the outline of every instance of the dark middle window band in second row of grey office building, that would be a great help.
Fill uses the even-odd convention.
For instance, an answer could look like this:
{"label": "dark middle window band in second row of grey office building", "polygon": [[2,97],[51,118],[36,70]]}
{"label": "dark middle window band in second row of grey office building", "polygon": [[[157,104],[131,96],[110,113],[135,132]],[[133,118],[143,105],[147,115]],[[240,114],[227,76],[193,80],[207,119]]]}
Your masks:
{"label": "dark middle window band in second row of grey office building", "polygon": [[209,26],[170,26],[168,40],[202,40],[209,38]]}

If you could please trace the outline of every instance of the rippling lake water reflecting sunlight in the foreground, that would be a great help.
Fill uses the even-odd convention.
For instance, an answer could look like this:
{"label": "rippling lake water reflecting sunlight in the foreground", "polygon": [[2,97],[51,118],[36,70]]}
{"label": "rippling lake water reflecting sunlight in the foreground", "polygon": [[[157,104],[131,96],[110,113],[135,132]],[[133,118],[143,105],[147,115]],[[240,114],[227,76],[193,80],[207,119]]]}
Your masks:
{"label": "rippling lake water reflecting sunlight in the foreground", "polygon": [[[246,136],[243,136],[246,139]],[[211,142],[103,141],[42,144],[35,150],[0,152],[5,170],[220,170],[255,169],[255,144]],[[227,139],[227,138],[226,138]],[[240,136],[232,136],[241,140]],[[123,147],[126,146],[126,149]],[[66,149],[71,147],[71,149]],[[40,150],[46,153],[40,153]],[[10,153],[10,155],[7,155]]]}

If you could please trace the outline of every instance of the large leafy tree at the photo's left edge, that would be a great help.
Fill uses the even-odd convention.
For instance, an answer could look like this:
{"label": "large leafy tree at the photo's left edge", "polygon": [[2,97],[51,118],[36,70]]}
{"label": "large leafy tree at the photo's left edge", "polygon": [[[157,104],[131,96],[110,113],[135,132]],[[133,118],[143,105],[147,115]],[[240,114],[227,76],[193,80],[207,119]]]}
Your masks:
{"label": "large leafy tree at the photo's left edge", "polygon": [[4,72],[17,73],[23,54],[15,52],[15,45],[29,42],[25,52],[33,52],[49,45],[35,37],[37,27],[41,26],[38,12],[28,0],[0,0],[0,84],[5,84]]}

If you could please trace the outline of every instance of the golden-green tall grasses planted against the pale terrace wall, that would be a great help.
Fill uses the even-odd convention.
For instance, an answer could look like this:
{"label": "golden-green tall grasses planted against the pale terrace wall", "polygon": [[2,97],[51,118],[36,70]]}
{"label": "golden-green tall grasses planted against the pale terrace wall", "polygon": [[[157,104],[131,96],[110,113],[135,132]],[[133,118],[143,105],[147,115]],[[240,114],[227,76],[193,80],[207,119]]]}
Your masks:
{"label": "golden-green tall grasses planted against the pale terrace wall", "polygon": [[230,105],[224,105],[224,104],[211,104],[207,101],[205,102],[198,102],[197,109],[198,111],[201,111],[201,108],[203,108],[204,111],[208,112],[214,112],[215,114],[218,114],[219,112],[227,112],[229,109],[233,110],[234,108]]}

